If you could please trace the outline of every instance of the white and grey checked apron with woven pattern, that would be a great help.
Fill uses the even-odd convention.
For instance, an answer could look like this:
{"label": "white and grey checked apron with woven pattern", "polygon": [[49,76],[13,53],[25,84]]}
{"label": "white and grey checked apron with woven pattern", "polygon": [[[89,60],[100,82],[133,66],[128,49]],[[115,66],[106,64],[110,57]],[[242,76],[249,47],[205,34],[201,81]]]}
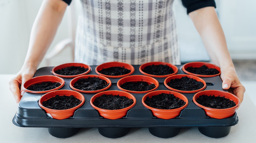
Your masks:
{"label": "white and grey checked apron with woven pattern", "polygon": [[75,62],[179,65],[173,0],[81,0]]}

